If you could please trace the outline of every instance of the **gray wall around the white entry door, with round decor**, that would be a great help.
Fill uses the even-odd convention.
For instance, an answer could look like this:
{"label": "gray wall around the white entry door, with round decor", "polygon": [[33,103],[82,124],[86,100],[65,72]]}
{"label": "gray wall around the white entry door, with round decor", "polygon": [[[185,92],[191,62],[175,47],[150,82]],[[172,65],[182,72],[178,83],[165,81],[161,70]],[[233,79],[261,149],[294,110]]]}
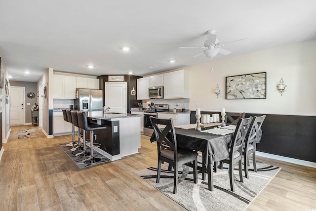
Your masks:
{"label": "gray wall around the white entry door, with round decor", "polygon": [[[32,123],[32,114],[31,114],[31,108],[32,106],[37,103],[38,98],[28,98],[27,93],[33,92],[35,93],[35,96],[38,91],[37,83],[35,82],[19,82],[19,81],[10,81],[10,86],[22,86],[25,87],[25,123]],[[30,105],[27,105],[30,103]]]}

